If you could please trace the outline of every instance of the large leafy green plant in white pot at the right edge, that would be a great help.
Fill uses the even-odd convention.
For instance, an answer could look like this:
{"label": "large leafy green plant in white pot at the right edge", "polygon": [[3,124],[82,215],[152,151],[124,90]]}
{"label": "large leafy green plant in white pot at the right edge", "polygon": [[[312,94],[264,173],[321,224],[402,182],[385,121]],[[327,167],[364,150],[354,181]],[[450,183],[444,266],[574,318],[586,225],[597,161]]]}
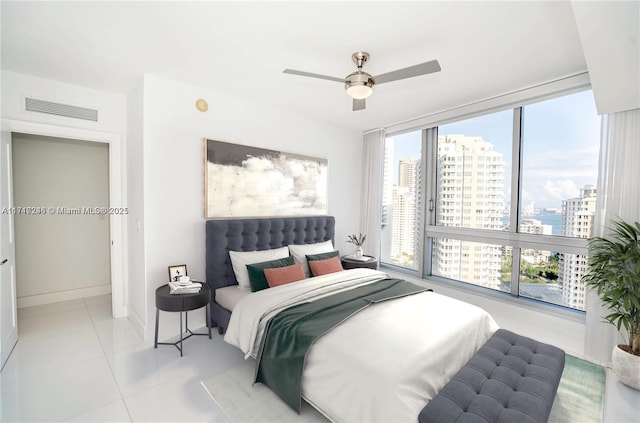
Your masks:
{"label": "large leafy green plant in white pot at the right edge", "polygon": [[640,390],[640,223],[617,220],[613,225],[611,238],[589,239],[582,280],[611,311],[605,320],[629,336],[628,344],[613,349],[613,372],[622,383]]}

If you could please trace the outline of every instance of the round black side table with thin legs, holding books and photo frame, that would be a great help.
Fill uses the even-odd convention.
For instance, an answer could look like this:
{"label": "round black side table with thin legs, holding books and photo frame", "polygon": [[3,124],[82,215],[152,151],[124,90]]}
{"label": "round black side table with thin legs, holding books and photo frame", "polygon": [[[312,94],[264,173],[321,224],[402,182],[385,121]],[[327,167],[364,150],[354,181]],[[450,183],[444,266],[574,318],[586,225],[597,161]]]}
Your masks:
{"label": "round black side table with thin legs, holding books and photo frame", "polygon": [[[205,307],[207,328],[209,328],[209,339],[211,339],[211,289],[207,283],[202,284],[200,292],[195,294],[170,294],[169,285],[162,285],[156,289],[156,337],[154,348],[158,345],[173,345],[180,351],[182,357],[182,341],[189,339],[192,335],[207,335],[206,333],[194,333],[189,329],[188,312]],[[160,320],[160,310],[180,312],[180,340],[176,342],[158,342],[158,323]],[[182,330],[182,312],[185,315],[184,327],[187,336]],[[178,346],[180,344],[180,346]]]}

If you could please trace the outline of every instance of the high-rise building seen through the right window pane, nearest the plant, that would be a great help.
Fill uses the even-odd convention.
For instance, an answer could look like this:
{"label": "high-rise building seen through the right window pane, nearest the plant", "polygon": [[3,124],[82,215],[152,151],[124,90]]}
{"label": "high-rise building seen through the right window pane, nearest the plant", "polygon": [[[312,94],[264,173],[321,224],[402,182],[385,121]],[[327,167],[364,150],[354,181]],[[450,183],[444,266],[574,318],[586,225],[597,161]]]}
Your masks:
{"label": "high-rise building seen through the right window pane, nearest the plant", "polygon": [[[586,185],[580,196],[562,201],[562,234],[574,238],[589,238],[593,232],[596,212],[596,188]],[[578,310],[585,308],[585,285],[582,276],[587,270],[587,256],[560,254],[558,276],[562,287],[562,302]]]}

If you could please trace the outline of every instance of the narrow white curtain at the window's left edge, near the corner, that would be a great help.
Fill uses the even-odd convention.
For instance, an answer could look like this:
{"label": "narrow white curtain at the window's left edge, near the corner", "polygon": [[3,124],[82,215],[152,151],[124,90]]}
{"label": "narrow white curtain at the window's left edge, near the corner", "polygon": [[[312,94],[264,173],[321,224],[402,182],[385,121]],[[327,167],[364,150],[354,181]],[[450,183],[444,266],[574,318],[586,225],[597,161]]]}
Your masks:
{"label": "narrow white curtain at the window's left edge, near the corner", "polygon": [[367,235],[365,254],[380,259],[380,227],[382,202],[382,171],[385,130],[375,129],[364,134],[362,147],[362,197],[360,230]]}

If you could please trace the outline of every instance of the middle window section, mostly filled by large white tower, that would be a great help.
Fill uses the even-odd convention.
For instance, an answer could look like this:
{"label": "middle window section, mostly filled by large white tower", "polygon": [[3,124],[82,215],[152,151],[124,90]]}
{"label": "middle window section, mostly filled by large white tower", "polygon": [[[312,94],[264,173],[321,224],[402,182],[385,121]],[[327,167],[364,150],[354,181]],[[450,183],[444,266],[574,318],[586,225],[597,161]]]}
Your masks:
{"label": "middle window section, mostly filled by large white tower", "polygon": [[[441,125],[437,133],[435,225],[507,229],[513,111]],[[431,247],[433,275],[510,291],[510,278],[501,273],[504,245],[434,237]]]}

